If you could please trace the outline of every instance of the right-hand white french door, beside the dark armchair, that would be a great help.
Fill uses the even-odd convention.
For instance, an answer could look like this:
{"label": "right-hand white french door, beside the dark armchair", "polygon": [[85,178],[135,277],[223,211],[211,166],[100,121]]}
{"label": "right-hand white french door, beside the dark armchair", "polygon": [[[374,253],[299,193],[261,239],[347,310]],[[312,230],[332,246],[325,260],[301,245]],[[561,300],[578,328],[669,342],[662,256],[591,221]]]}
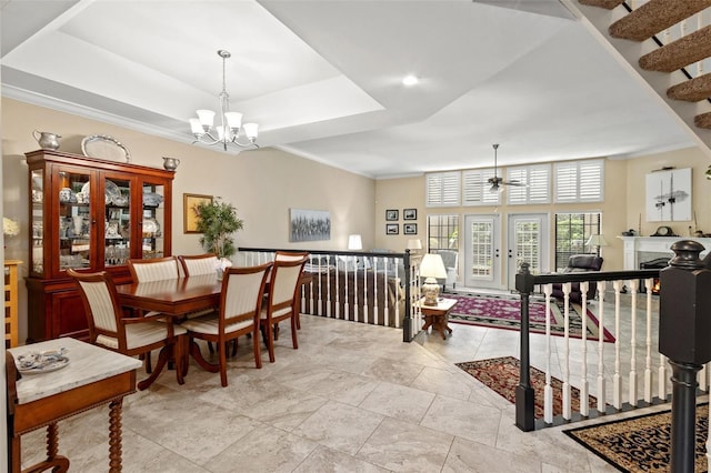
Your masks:
{"label": "right-hand white french door, beside the dark armchair", "polygon": [[509,214],[509,238],[507,249],[508,288],[515,289],[515,273],[521,263],[529,263],[533,274],[549,269],[549,224],[545,213]]}

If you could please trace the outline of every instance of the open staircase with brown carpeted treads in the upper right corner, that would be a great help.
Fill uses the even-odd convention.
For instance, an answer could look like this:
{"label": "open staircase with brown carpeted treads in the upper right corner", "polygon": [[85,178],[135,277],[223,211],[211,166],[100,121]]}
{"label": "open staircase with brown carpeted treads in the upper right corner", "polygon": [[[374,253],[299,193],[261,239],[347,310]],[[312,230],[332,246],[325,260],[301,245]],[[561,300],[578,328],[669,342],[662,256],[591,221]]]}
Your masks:
{"label": "open staircase with brown carpeted treads in the upper right corner", "polygon": [[560,0],[711,157],[711,0]]}

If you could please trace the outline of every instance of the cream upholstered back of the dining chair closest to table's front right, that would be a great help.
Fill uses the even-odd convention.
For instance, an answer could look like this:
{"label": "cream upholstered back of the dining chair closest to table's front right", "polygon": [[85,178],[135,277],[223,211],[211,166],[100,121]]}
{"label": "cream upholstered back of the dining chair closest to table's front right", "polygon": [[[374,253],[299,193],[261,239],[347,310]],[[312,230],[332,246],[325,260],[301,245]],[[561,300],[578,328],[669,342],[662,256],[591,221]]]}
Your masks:
{"label": "cream upholstered back of the dining chair closest to table's front right", "polygon": [[[220,328],[252,319],[259,323],[262,295],[272,263],[228,268],[222,276]],[[214,271],[214,270],[213,270]]]}

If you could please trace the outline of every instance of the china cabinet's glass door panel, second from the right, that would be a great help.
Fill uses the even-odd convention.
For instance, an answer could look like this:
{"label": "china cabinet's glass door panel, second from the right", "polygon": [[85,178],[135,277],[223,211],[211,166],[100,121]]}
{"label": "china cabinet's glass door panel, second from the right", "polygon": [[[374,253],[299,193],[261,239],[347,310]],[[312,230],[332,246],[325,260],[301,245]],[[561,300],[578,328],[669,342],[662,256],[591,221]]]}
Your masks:
{"label": "china cabinet's glass door panel, second from the right", "polygon": [[131,181],[109,175],[104,182],[103,265],[127,264],[131,258]]}

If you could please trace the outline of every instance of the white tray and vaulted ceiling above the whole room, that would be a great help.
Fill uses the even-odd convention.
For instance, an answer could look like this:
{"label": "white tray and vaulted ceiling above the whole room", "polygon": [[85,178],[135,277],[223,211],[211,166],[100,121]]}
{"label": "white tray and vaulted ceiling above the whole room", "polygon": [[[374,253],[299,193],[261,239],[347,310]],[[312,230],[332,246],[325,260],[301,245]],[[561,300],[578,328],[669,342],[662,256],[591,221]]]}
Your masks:
{"label": "white tray and vaulted ceiling above the whole room", "polygon": [[[558,0],[2,3],[2,94],[190,142],[217,109],[259,143],[373,178],[685,148]],[[402,84],[412,74],[419,83]]]}

